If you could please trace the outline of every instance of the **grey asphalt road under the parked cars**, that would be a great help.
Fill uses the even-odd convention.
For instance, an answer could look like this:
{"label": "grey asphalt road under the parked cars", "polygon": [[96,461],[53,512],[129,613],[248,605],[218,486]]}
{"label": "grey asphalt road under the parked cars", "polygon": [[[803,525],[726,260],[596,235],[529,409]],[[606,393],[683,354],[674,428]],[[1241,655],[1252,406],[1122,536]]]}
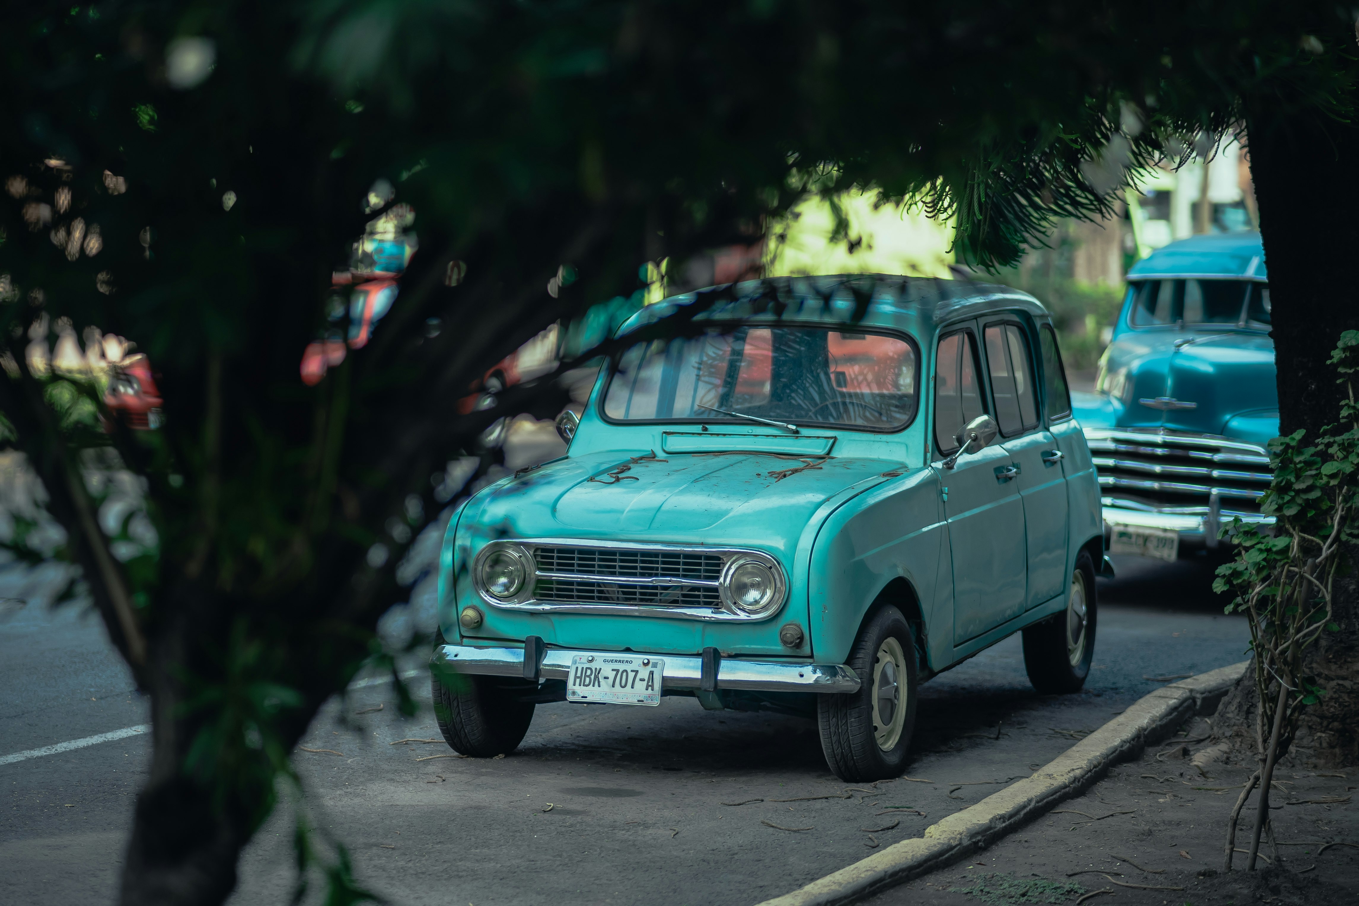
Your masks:
{"label": "grey asphalt road under the parked cars", "polygon": [[[1210,568],[1118,566],[1118,580],[1101,580],[1086,690],[1038,695],[1019,640],[993,647],[923,686],[915,781],[849,789],[826,770],[813,723],[689,698],[540,705],[516,753],[462,759],[442,742],[397,743],[439,733],[427,706],[401,719],[375,683],[333,702],[303,740],[341,753],[296,753],[304,807],[349,849],[360,882],[395,903],[756,903],[1027,774],[1157,687],[1148,678],[1242,659],[1246,628],[1211,600]],[[0,566],[0,598],[43,587]],[[144,724],[147,705],[98,621],[41,598],[0,613],[0,903],[109,902],[148,738],[4,757]],[[412,683],[427,705],[427,681]],[[287,902],[292,808],[246,853],[234,903]]]}

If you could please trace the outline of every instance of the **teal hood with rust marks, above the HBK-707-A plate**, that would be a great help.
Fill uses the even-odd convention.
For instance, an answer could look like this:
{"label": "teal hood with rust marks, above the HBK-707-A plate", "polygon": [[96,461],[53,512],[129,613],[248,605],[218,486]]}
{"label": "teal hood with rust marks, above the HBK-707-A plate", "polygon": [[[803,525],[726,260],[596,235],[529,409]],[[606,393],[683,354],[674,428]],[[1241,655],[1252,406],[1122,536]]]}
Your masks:
{"label": "teal hood with rust marks, above the HBK-707-A plate", "polygon": [[[631,452],[631,451],[629,451]],[[758,452],[557,459],[496,484],[461,524],[493,537],[594,538],[791,551],[817,509],[847,489],[901,474],[886,459]]]}

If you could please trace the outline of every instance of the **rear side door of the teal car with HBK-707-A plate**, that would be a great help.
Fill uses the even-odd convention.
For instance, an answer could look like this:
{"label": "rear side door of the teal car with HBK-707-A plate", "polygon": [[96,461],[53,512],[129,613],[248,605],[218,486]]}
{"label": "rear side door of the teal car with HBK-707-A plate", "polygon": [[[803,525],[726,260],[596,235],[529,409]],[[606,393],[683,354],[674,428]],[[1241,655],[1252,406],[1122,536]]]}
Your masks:
{"label": "rear side door of the teal car with HBK-707-A plate", "polygon": [[1063,455],[1044,425],[1029,330],[1017,318],[983,322],[987,376],[1000,446],[1010,454],[1008,482],[1023,500],[1027,545],[1025,610],[1060,595],[1067,573],[1067,482]]}

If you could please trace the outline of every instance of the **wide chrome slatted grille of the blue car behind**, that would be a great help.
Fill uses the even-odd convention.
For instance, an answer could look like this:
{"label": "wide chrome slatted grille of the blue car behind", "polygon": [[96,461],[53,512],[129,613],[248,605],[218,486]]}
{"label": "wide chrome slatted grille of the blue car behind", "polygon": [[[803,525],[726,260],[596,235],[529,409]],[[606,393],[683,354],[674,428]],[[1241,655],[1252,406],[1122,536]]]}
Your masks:
{"label": "wide chrome slatted grille of the blue car behind", "polygon": [[1269,455],[1254,444],[1161,429],[1086,431],[1106,507],[1260,519]]}

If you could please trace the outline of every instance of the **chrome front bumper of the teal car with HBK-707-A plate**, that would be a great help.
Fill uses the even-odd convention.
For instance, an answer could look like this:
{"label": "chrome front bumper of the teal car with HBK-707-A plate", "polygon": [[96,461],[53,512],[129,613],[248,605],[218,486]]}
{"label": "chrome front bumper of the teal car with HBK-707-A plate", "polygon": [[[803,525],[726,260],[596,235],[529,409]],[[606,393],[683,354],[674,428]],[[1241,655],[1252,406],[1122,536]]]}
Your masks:
{"label": "chrome front bumper of the teal car with HBK-707-A plate", "polygon": [[[544,652],[540,676],[567,679],[572,655],[614,655],[609,651],[549,648]],[[628,652],[648,656],[647,652]],[[703,659],[693,655],[650,655],[665,662],[662,689],[700,689]],[[523,676],[523,648],[473,648],[439,645],[429,667],[435,672],[484,676]],[[771,693],[853,693],[859,676],[844,664],[798,664],[772,660],[723,657],[716,670],[716,687]]]}

